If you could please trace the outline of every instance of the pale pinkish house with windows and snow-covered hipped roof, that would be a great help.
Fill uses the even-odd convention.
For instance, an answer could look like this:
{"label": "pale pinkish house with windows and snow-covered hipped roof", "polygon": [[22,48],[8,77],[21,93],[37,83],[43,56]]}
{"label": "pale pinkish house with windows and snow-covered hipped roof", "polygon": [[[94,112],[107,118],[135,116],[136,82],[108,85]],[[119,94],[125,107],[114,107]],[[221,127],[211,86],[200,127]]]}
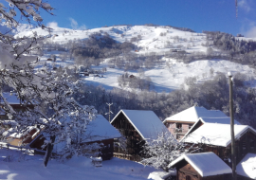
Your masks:
{"label": "pale pinkish house with windows and snow-covered hipped roof", "polygon": [[[180,113],[175,114],[172,117],[167,117],[163,123],[168,128],[168,130],[176,136],[177,139],[181,139],[188,131],[192,128],[192,125],[198,120],[199,117],[211,117],[210,121],[217,120],[217,123],[221,123],[224,120],[225,123],[227,117],[223,112],[219,110],[207,110],[204,107],[192,106]],[[205,119],[204,118],[204,119]],[[235,120],[236,124],[240,124]]]}

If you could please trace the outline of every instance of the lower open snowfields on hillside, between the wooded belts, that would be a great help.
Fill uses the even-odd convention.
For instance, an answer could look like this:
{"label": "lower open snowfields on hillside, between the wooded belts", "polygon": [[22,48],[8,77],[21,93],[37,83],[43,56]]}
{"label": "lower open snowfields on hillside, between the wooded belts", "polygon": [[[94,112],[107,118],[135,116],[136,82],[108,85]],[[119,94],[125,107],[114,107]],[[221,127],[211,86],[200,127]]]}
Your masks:
{"label": "lower open snowfields on hillside, between the wooded belts", "polygon": [[[41,64],[46,61],[43,57]],[[178,63],[172,59],[166,59],[170,62],[170,67],[166,65],[158,65],[153,69],[145,69],[145,76],[150,77],[153,81],[153,88],[156,92],[170,92],[180,88],[184,83],[184,80],[188,77],[195,77],[196,82],[200,83],[212,79],[218,73],[232,72],[232,74],[242,73],[247,74],[247,82],[251,86],[256,86],[256,81],[251,81],[251,78],[255,76],[255,70],[248,65],[242,65],[240,63],[231,63],[226,60],[200,60],[192,63]],[[51,62],[47,62],[51,65]],[[61,61],[56,62],[56,65],[65,66],[72,64],[71,61],[63,63]],[[119,68],[109,68],[107,61],[101,63],[99,66],[93,66],[93,69],[102,69],[106,67],[107,71],[103,74],[103,77],[83,77],[82,79],[87,83],[94,85],[101,85],[105,89],[113,89],[119,87],[118,77],[125,72],[139,76],[137,71],[125,71]],[[213,74],[210,74],[210,69],[213,69]]]}

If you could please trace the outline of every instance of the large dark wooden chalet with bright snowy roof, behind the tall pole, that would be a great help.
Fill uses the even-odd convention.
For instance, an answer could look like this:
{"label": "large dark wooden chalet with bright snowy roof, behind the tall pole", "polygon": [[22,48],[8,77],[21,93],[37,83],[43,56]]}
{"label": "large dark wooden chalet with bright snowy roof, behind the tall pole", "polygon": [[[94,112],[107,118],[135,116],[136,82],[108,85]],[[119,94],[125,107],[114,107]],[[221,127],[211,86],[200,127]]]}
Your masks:
{"label": "large dark wooden chalet with bright snowy roof, behind the tall pole", "polygon": [[[199,118],[183,137],[185,142],[201,146],[201,152],[213,152],[230,165],[230,124],[209,123]],[[207,118],[204,118],[207,120]],[[210,118],[208,119],[210,121]],[[234,125],[236,163],[247,153],[256,153],[256,130],[247,125]]]}

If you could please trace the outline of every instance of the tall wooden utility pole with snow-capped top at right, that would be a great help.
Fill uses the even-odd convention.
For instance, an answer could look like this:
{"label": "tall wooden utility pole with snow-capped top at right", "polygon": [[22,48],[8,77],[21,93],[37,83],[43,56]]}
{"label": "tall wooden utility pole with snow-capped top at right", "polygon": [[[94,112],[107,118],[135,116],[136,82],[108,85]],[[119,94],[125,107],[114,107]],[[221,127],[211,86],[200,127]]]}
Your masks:
{"label": "tall wooden utility pole with snow-capped top at right", "polygon": [[234,139],[234,117],[233,117],[233,78],[229,75],[229,114],[230,114],[230,132],[231,132],[231,161],[232,161],[232,180],[236,180],[236,152]]}

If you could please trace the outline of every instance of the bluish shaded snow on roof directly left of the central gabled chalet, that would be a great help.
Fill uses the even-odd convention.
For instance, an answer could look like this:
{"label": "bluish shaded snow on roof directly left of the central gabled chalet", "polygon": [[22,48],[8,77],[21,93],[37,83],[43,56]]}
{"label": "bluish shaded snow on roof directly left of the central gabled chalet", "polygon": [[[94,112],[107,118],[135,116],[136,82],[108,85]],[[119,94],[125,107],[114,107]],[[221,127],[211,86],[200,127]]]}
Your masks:
{"label": "bluish shaded snow on roof directly left of the central gabled chalet", "polygon": [[83,142],[119,138],[120,136],[119,131],[113,127],[105,117],[97,115],[95,120],[87,125]]}

